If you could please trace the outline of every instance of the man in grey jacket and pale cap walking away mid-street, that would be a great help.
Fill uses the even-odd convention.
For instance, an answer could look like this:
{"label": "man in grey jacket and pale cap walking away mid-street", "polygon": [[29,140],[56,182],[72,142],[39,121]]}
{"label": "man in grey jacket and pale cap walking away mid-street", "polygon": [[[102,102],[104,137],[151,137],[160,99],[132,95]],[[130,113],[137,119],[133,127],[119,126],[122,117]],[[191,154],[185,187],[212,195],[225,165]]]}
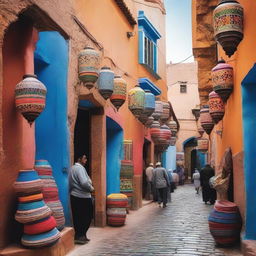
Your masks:
{"label": "man in grey jacket and pale cap walking away mid-street", "polygon": [[161,167],[161,162],[156,163],[156,168],[153,171],[153,184],[157,190],[158,204],[161,207],[163,203],[163,208],[167,204],[167,192],[170,187],[169,178],[165,168]]}

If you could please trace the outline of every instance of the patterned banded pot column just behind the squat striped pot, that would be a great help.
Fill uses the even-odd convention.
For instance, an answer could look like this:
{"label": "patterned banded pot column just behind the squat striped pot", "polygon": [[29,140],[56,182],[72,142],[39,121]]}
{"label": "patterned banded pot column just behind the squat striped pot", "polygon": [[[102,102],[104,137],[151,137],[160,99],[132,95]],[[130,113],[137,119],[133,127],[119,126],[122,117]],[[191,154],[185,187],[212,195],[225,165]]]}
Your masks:
{"label": "patterned banded pot column just behind the squat striped pot", "polygon": [[133,162],[131,160],[121,161],[120,170],[120,193],[128,197],[128,206],[132,207],[133,201]]}

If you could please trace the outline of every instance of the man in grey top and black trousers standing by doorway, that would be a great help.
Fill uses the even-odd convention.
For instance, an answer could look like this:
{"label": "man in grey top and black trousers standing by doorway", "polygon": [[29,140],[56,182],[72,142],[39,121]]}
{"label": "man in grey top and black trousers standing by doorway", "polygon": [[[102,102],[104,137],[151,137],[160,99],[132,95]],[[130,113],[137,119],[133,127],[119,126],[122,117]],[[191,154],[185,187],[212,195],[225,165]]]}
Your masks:
{"label": "man in grey top and black trousers standing by doorway", "polygon": [[86,162],[86,155],[79,156],[69,172],[70,204],[76,244],[85,244],[90,241],[87,231],[93,217],[91,192],[94,188],[84,168]]}

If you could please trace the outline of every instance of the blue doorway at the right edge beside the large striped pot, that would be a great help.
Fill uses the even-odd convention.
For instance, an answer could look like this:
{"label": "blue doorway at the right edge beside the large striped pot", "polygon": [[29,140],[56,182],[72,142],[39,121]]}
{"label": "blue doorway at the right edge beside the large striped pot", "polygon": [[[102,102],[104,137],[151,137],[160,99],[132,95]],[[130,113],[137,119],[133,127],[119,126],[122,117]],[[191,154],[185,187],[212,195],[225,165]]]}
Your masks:
{"label": "blue doorway at the right edge beside the large striped pot", "polygon": [[245,239],[256,240],[256,64],[242,81],[242,106],[246,193]]}

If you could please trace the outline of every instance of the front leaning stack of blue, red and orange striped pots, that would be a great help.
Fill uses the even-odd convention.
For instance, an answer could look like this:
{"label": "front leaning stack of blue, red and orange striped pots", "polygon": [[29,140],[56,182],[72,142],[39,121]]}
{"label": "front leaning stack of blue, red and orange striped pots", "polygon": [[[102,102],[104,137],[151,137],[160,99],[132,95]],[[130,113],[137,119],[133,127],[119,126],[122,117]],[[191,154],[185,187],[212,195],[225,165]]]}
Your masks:
{"label": "front leaning stack of blue, red and orange striped pots", "polygon": [[21,243],[30,248],[50,246],[60,238],[51,209],[43,201],[42,186],[35,170],[20,170],[14,183],[19,201],[15,219],[24,224]]}

